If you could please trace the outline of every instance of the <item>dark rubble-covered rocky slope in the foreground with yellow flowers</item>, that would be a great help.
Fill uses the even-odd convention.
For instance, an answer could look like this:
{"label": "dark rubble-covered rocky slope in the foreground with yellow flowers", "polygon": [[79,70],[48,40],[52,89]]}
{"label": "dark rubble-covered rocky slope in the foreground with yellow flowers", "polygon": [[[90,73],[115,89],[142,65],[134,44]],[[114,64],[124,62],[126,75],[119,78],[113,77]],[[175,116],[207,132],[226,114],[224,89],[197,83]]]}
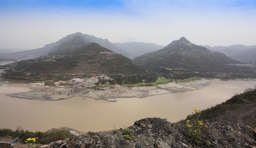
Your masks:
{"label": "dark rubble-covered rocky slope in the foreground with yellow flowers", "polygon": [[[255,106],[255,102],[249,106]],[[255,113],[254,108],[250,111]],[[254,124],[255,117],[244,116],[246,118],[242,118],[241,123],[244,109],[226,112],[223,116],[203,122],[207,128],[198,144],[189,140],[185,120],[170,123],[166,119],[145,118],[128,127],[133,132],[132,140],[123,139],[123,129],[88,132],[64,141],[55,141],[50,148],[206,148],[206,141],[212,143],[209,146],[212,148],[256,148],[256,128],[243,123],[249,119]]]}

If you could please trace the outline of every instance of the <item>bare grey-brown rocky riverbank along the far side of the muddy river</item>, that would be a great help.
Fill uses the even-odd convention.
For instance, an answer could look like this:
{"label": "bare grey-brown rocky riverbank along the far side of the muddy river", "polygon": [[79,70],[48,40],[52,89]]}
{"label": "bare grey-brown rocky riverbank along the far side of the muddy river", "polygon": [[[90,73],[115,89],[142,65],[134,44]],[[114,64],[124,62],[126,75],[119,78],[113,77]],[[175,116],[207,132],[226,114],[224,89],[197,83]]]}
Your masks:
{"label": "bare grey-brown rocky riverbank along the far side of the muddy river", "polygon": [[[115,102],[116,98],[131,98],[138,97],[144,98],[153,95],[162,95],[166,93],[182,93],[187,91],[193,91],[203,88],[208,85],[210,80],[201,79],[197,81],[191,81],[187,83],[168,83],[158,86],[144,86],[144,87],[128,87],[114,85],[112,87],[105,87],[102,90],[95,90],[86,88],[84,86],[76,85],[72,86],[59,86],[50,87],[44,86],[43,83],[10,83],[7,81],[1,81],[0,87],[9,88],[29,88],[24,92],[5,92],[2,95],[9,97],[21,98],[21,99],[35,99],[40,101],[56,101],[69,99],[71,97],[90,97],[96,100],[103,99],[106,101]],[[62,95],[60,98],[56,98],[57,95]]]}

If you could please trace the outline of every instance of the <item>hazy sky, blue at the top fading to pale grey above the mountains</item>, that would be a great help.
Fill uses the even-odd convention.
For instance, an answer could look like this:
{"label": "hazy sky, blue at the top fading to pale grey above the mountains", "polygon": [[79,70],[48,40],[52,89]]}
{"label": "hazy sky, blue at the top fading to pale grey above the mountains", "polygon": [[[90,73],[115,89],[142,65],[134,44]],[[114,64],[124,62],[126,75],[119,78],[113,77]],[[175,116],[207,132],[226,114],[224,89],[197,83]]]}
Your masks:
{"label": "hazy sky, blue at the top fading to pale grey above the mountains", "polygon": [[0,49],[81,32],[110,42],[256,45],[256,0],[0,0]]}

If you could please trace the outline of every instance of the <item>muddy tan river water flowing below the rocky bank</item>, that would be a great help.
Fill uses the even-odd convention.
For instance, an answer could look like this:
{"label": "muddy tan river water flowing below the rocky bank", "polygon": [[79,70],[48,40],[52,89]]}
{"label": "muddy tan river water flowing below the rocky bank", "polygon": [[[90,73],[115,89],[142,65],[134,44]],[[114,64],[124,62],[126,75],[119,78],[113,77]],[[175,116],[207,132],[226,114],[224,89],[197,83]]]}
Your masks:
{"label": "muddy tan river water flowing below the rocky bank", "polygon": [[85,97],[61,101],[18,99],[3,94],[26,92],[29,88],[0,86],[0,128],[15,130],[21,126],[24,130],[45,132],[67,126],[81,132],[98,132],[128,127],[147,117],[177,122],[194,108],[206,109],[256,85],[256,81],[215,80],[208,83],[209,86],[191,92],[118,98],[117,102],[82,99]]}

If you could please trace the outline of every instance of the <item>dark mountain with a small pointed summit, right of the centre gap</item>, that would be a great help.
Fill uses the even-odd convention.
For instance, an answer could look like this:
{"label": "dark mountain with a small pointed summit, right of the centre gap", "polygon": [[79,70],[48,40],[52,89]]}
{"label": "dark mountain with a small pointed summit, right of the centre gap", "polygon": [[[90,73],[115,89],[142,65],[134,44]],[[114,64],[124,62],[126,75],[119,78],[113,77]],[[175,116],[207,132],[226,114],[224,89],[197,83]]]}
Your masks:
{"label": "dark mountain with a small pointed summit, right of the centre gap", "polygon": [[[185,37],[172,41],[163,49],[146,53],[133,59],[135,65],[156,73],[172,76],[203,76],[213,73],[255,73],[249,67],[237,67],[242,62],[233,60],[223,53],[210,51],[205,47],[189,42]],[[182,77],[183,78],[183,77]]]}

